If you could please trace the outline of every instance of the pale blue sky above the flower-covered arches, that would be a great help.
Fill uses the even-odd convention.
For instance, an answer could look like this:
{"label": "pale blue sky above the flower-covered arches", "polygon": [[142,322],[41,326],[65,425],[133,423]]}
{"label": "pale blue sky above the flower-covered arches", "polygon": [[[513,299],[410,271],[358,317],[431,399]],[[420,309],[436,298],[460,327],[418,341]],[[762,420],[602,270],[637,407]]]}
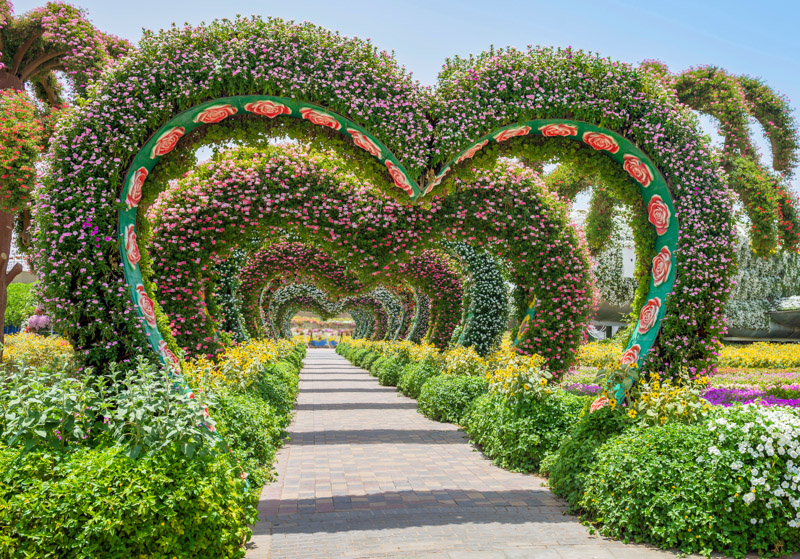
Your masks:
{"label": "pale blue sky above the flower-covered arches", "polygon": [[[17,12],[44,0],[16,0]],[[713,64],[764,78],[800,105],[800,2],[766,0],[73,0],[104,31],[136,42],[142,28],[198,24],[236,14],[278,16],[370,38],[421,82],[444,59],[489,45],[572,46],[636,63],[655,58],[673,71]],[[760,142],[761,146],[766,146]],[[800,170],[798,171],[800,174]],[[800,180],[795,180],[800,193]]]}

